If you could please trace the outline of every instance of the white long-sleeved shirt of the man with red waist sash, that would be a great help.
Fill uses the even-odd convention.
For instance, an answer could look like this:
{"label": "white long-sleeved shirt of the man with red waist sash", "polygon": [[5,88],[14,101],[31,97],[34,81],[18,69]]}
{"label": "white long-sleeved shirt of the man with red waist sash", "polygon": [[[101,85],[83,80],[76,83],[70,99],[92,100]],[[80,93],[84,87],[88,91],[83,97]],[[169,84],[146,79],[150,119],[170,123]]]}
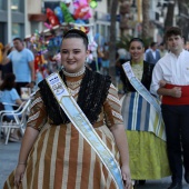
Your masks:
{"label": "white long-sleeved shirt of the man with red waist sash", "polygon": [[162,57],[155,66],[150,91],[157,94],[159,81],[178,86],[189,86],[189,52],[182,50],[179,57],[172,52]]}

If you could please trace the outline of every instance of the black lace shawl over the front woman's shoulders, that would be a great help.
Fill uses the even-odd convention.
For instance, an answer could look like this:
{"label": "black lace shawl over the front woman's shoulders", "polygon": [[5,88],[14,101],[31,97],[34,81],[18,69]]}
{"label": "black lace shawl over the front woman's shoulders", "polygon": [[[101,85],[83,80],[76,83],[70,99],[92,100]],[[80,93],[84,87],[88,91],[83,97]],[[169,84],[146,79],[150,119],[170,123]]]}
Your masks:
{"label": "black lace shawl over the front woman's shoulders", "polygon": [[[66,83],[63,72],[60,71],[59,74]],[[101,112],[101,108],[108,96],[110,83],[111,80],[109,76],[102,76],[98,72],[86,69],[77,102],[91,123],[97,121],[98,116]],[[47,81],[42,80],[38,86],[40,88],[41,98],[46,106],[48,117],[52,120],[53,125],[70,122],[69,118],[53,97]]]}

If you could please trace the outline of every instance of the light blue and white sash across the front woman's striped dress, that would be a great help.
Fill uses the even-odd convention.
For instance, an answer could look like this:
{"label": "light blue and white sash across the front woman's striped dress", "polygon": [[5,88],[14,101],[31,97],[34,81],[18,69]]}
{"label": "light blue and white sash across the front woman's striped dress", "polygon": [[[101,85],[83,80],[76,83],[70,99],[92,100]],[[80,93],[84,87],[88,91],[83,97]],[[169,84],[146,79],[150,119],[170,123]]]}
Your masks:
{"label": "light blue and white sash across the front woman's striped dress", "polygon": [[77,130],[88,141],[91,148],[97,152],[117,186],[118,189],[123,189],[122,176],[118,162],[100,139],[90,121],[87,119],[82,110],[77,105],[73,97],[68,92],[66,84],[58,73],[52,73],[46,78],[49,88],[56,97],[58,103],[63,109],[68,118],[71,120]]}

